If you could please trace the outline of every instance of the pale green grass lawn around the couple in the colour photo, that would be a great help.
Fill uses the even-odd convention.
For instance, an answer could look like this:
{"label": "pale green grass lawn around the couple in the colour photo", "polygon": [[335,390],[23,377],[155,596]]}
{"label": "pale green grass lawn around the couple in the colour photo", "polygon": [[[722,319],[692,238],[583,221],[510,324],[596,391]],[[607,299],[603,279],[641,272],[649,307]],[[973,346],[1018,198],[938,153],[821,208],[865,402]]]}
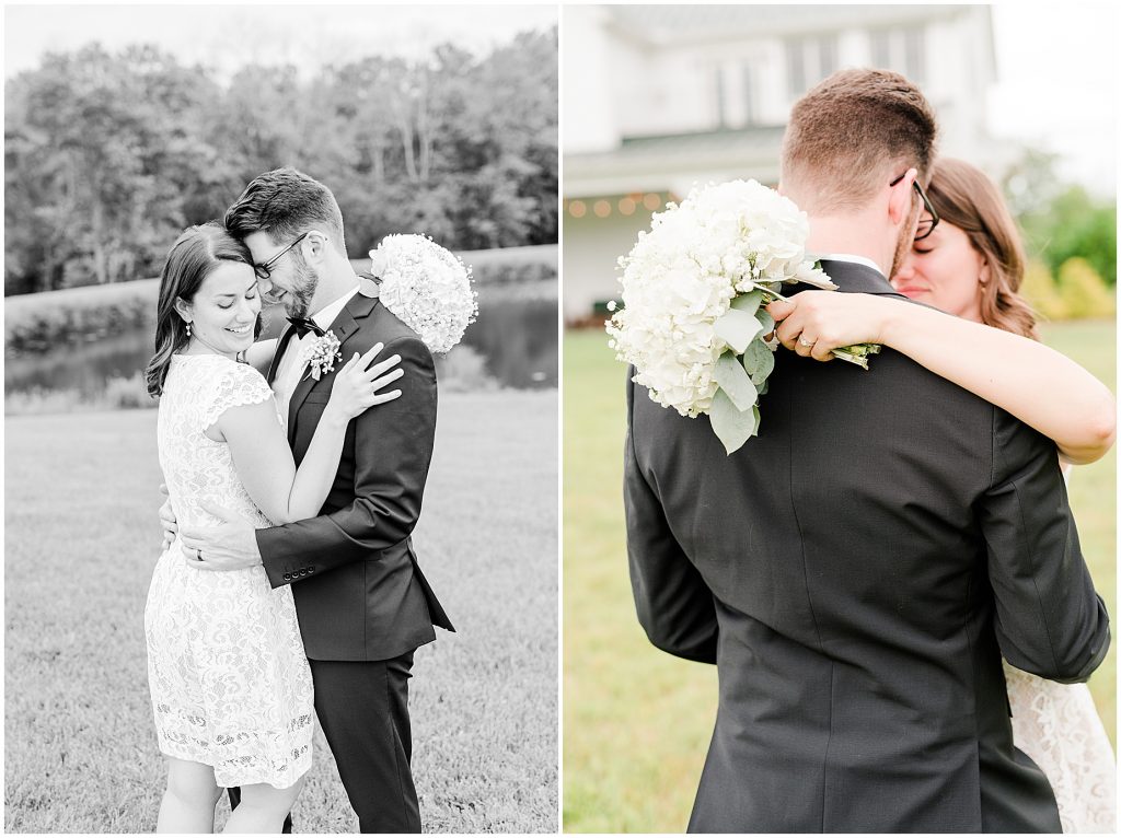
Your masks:
{"label": "pale green grass lawn around the couple in the colour photo", "polygon": [[[1114,385],[1112,320],[1055,324],[1044,337]],[[603,332],[566,335],[564,828],[571,832],[683,831],[716,713],[715,668],[659,652],[634,617],[621,490],[624,376]],[[1071,478],[1083,551],[1114,618],[1115,478],[1115,450]],[[1115,681],[1111,650],[1090,686],[1114,742]]]}

